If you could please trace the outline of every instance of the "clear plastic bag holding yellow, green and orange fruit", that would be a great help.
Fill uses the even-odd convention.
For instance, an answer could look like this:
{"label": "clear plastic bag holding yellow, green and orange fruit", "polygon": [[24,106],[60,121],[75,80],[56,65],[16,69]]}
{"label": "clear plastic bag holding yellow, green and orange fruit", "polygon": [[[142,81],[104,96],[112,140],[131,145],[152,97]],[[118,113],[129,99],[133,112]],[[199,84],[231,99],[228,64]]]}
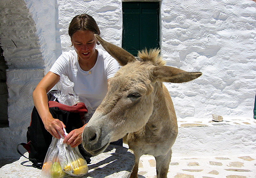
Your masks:
{"label": "clear plastic bag holding yellow, green and orange fruit", "polygon": [[[66,130],[63,128],[65,134]],[[79,152],[78,147],[72,148],[63,144],[64,137],[52,137],[44,159],[40,178],[63,178],[68,176],[83,176],[88,173],[88,166]]]}

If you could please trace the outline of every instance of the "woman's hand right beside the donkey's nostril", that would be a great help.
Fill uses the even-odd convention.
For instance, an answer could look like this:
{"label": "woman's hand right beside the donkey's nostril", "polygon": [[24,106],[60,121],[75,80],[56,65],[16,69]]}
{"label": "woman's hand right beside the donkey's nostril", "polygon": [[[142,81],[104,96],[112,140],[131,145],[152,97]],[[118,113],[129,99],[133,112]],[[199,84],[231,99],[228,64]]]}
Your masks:
{"label": "woman's hand right beside the donkey's nostril", "polygon": [[72,130],[66,137],[64,138],[63,143],[67,143],[70,145],[72,148],[78,146],[80,143],[82,143],[82,134],[84,131],[86,124],[79,128],[79,129],[74,129]]}

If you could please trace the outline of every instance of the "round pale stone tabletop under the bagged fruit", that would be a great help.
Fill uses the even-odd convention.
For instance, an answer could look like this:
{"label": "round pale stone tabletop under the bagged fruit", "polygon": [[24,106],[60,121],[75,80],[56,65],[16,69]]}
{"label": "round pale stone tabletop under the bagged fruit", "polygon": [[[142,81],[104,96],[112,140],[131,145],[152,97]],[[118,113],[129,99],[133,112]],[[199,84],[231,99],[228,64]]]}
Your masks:
{"label": "round pale stone tabletop under the bagged fruit", "polygon": [[[28,157],[28,153],[25,153]],[[128,178],[134,167],[135,157],[131,150],[116,145],[109,145],[104,153],[91,158],[89,173],[82,178]],[[0,177],[38,178],[41,170],[33,168],[24,157],[0,168]],[[21,165],[21,163],[25,163]]]}

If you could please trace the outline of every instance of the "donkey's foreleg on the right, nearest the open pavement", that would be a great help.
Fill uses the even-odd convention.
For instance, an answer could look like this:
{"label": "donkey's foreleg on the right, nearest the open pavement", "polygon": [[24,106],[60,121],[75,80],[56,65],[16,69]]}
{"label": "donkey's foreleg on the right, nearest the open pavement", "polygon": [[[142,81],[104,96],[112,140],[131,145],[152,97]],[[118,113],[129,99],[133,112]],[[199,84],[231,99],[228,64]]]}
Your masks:
{"label": "donkey's foreleg on the right, nearest the open pavement", "polygon": [[166,155],[155,157],[157,178],[167,178],[169,164],[171,162],[171,149]]}

